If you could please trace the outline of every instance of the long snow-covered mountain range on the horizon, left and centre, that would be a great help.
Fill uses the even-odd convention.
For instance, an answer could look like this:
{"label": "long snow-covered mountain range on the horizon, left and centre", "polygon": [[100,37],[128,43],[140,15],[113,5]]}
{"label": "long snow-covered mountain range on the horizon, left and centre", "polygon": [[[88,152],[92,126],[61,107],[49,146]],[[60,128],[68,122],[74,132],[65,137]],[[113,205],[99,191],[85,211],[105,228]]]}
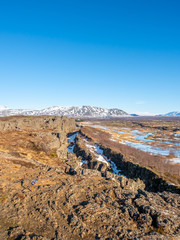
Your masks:
{"label": "long snow-covered mountain range on the horizon, left and centre", "polygon": [[117,118],[122,116],[130,116],[123,110],[117,108],[107,109],[92,106],[55,106],[45,108],[43,110],[9,109],[7,107],[0,106],[0,116],[11,115],[56,115],[75,118]]}

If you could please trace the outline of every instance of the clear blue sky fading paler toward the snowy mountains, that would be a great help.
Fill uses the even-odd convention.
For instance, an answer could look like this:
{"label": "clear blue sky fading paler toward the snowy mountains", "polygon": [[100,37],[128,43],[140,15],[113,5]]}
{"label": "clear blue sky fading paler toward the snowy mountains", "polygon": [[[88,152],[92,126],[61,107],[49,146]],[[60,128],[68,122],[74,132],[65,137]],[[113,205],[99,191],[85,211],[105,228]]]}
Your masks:
{"label": "clear blue sky fading paler toward the snowy mountains", "polygon": [[0,0],[0,105],[180,111],[179,0]]}

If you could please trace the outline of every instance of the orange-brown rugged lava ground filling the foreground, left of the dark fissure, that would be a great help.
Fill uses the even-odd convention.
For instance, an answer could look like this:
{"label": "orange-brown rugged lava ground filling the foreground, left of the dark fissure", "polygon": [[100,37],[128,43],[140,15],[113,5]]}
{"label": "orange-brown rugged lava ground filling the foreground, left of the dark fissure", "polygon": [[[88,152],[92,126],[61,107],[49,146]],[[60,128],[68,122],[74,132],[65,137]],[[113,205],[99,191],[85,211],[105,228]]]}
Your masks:
{"label": "orange-brown rugged lava ground filling the foreground, left of the dark fissure", "polygon": [[179,194],[115,174],[78,130],[66,117],[0,119],[0,239],[180,239]]}

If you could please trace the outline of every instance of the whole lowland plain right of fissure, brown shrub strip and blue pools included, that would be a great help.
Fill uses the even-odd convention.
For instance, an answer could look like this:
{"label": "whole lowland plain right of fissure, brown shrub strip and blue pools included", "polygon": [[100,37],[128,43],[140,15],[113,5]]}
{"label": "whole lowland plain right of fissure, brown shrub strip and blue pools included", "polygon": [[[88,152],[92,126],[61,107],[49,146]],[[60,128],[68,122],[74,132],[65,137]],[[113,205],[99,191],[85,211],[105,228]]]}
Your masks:
{"label": "whole lowland plain right of fissure, brown shrub strip and blue pools included", "polygon": [[148,168],[169,184],[180,184],[180,118],[87,120],[81,122],[81,132],[123,161]]}

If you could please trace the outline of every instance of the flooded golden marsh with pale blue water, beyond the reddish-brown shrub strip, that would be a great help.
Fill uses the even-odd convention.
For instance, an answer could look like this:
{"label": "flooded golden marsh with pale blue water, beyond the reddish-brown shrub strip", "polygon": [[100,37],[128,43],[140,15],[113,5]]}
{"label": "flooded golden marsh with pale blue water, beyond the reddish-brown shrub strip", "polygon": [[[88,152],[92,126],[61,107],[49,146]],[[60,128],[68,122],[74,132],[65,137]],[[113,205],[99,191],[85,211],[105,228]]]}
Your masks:
{"label": "flooded golden marsh with pale blue water, beyond the reddish-brown shrub strip", "polygon": [[[162,120],[159,120],[162,122]],[[166,156],[168,161],[180,163],[180,120],[164,120],[163,128],[158,120],[148,122],[130,122],[124,127],[124,120],[85,122],[83,125],[100,129],[111,135],[110,140],[149,152]],[[174,122],[174,124],[173,124]]]}

